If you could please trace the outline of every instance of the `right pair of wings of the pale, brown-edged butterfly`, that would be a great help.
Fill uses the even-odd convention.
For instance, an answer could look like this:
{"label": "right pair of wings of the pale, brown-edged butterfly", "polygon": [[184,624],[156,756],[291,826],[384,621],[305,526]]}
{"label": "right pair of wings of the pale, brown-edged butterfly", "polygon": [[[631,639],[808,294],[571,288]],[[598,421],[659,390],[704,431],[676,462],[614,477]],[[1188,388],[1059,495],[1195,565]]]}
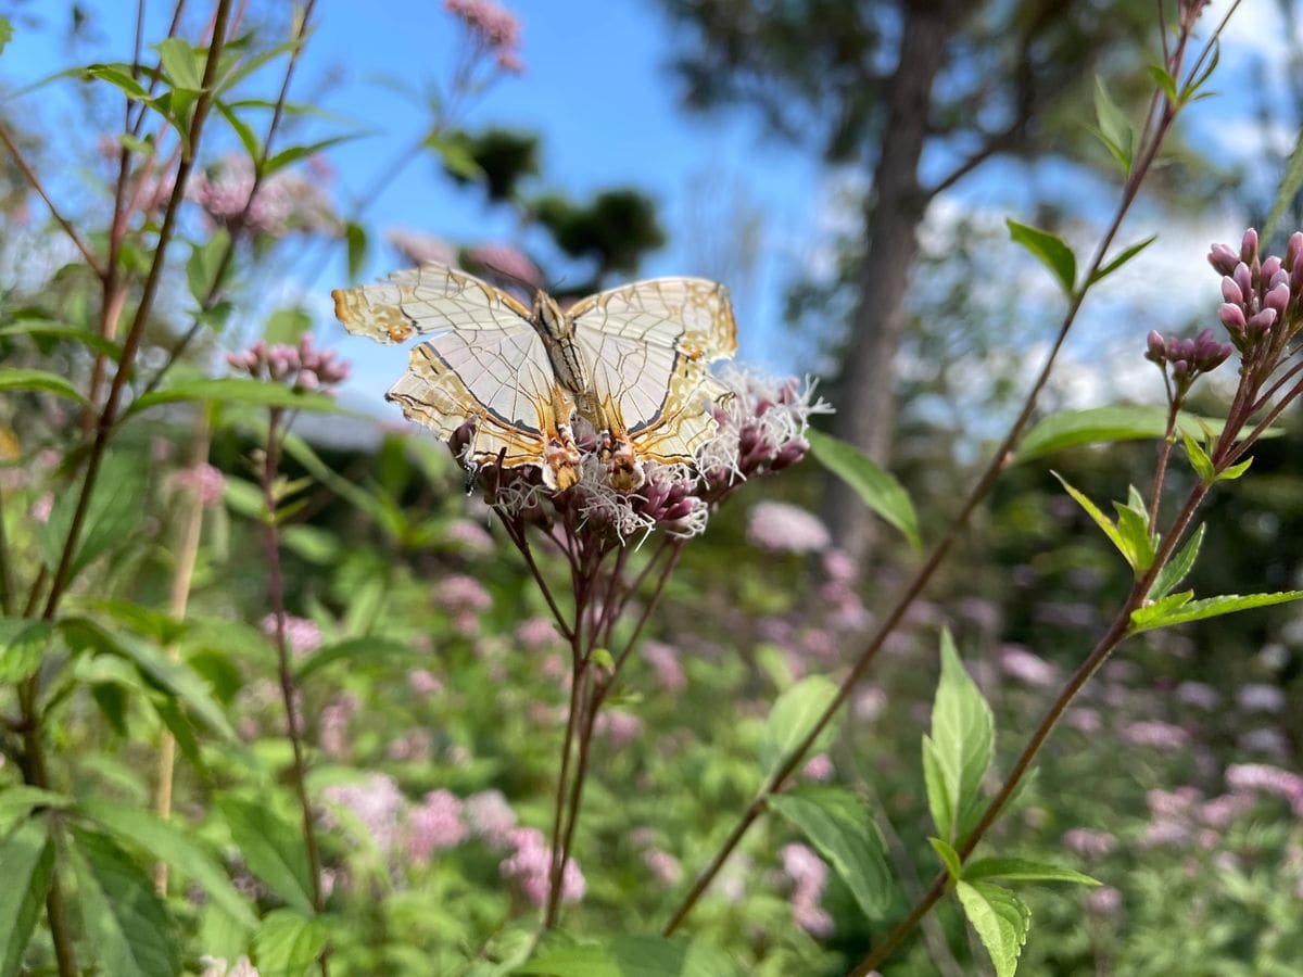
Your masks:
{"label": "right pair of wings of the pale, brown-edged butterfly", "polygon": [[569,309],[592,376],[581,413],[641,459],[691,462],[728,391],[706,370],[737,347],[728,290],[705,279],[650,279]]}

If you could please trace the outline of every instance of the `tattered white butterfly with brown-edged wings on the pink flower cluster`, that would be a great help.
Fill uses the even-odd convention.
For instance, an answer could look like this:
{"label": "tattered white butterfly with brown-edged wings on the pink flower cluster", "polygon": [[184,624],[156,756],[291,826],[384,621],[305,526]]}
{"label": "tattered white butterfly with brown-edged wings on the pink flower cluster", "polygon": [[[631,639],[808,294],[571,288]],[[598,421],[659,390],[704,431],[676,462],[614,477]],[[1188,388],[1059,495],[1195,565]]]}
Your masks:
{"label": "tattered white butterfly with brown-edged wings on the pink flower cluster", "polygon": [[709,363],[737,348],[728,289],[706,279],[635,281],[568,309],[539,290],[533,307],[427,262],[384,281],[335,289],[335,315],[380,343],[412,348],[387,400],[443,439],[466,421],[469,465],[537,465],[550,488],[579,481],[575,417],[597,432],[611,486],[644,482],[644,461],[693,464],[731,396]]}

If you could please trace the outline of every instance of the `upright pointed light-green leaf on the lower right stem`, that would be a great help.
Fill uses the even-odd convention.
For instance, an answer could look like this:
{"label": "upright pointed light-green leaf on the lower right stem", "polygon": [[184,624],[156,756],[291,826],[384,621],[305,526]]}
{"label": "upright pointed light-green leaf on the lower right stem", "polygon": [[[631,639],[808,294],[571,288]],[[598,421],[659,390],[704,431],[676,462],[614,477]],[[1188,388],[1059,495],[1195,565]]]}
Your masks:
{"label": "upright pointed light-green leaf on the lower right stem", "polygon": [[981,793],[981,782],[990,766],[995,744],[995,719],[972,680],[950,630],[941,633],[941,680],[932,706],[932,743],[943,778],[946,799],[954,814],[947,842],[966,831],[966,821]]}

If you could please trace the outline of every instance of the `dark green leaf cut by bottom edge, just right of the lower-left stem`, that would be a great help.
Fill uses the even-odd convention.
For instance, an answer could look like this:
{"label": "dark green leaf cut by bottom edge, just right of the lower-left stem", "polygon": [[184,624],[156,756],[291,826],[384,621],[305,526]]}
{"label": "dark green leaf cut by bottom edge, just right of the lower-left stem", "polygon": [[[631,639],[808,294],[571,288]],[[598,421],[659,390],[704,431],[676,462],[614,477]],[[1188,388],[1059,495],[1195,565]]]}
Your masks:
{"label": "dark green leaf cut by bottom edge, just right of the lower-left stem", "polygon": [[72,828],[77,896],[104,977],[176,977],[179,941],[154,881],[113,842]]}

